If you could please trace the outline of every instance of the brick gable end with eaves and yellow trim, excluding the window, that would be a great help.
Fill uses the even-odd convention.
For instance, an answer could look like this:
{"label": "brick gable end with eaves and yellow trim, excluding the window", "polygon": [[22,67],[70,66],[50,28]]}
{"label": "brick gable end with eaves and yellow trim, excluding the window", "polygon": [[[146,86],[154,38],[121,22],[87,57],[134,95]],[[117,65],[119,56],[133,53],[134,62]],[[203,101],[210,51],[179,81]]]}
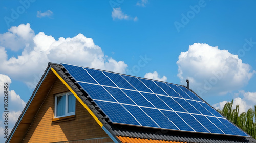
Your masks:
{"label": "brick gable end with eaves and yellow trim, excluding the window", "polygon": [[[113,142],[113,136],[77,96],[77,91],[59,76],[56,72],[59,68],[56,66],[48,64],[6,142],[67,142],[70,139],[75,139],[72,142],[77,142],[78,139],[80,142]],[[53,95],[67,91],[71,91],[76,97],[76,115],[61,121],[53,120]]]}

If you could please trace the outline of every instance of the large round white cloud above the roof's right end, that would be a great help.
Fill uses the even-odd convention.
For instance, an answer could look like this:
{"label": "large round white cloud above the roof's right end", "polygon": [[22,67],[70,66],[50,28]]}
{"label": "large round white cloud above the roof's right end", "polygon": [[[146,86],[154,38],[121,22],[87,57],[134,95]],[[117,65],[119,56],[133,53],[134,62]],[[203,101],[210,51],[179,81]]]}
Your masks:
{"label": "large round white cloud above the roof's right end", "polygon": [[189,79],[190,87],[199,96],[226,94],[243,87],[256,72],[238,55],[208,44],[194,43],[179,55],[178,77],[182,84]]}

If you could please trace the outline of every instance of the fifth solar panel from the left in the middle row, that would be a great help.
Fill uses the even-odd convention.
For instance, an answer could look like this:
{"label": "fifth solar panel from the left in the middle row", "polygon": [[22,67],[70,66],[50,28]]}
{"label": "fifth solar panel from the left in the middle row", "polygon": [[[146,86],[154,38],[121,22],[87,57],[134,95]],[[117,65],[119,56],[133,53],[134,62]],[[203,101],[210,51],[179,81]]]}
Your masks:
{"label": "fifth solar panel from the left in the middle row", "polygon": [[170,108],[172,108],[174,111],[179,112],[187,112],[184,108],[182,108],[175,100],[173,100],[171,97],[165,97],[165,96],[158,96],[160,99],[162,99]]}

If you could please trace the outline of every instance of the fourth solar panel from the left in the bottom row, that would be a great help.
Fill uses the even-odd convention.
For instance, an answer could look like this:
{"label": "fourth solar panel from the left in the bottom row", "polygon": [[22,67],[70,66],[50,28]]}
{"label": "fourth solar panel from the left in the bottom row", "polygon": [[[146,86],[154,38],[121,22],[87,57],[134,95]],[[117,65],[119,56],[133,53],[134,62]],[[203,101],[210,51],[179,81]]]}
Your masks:
{"label": "fourth solar panel from the left in the bottom row", "polygon": [[175,112],[172,111],[161,111],[166,117],[169,118],[180,130],[183,131],[194,131],[191,127],[188,126]]}

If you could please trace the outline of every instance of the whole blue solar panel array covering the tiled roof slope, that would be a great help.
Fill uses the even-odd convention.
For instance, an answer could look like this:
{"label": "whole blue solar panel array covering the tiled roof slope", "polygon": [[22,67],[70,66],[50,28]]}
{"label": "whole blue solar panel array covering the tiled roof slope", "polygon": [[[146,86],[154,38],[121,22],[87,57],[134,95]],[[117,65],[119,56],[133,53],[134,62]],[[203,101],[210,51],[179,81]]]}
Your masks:
{"label": "whole blue solar panel array covering the tiled roof slope", "polygon": [[62,65],[114,124],[249,137],[183,86]]}

